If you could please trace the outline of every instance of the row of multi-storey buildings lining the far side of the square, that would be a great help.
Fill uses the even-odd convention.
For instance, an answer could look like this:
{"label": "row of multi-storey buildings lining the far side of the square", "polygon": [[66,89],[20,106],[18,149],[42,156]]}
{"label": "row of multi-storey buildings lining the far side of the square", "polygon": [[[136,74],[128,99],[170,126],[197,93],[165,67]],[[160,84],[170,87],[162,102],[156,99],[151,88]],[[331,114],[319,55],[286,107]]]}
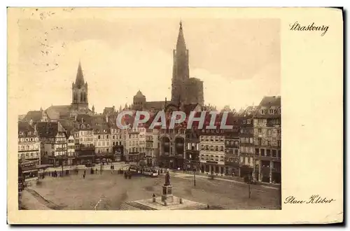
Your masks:
{"label": "row of multi-storey buildings lining the far side of the square", "polygon": [[[179,109],[169,104],[166,113],[201,111],[199,105]],[[218,121],[221,121],[221,114]],[[228,113],[230,130],[149,129],[147,124],[120,130],[118,112],[78,115],[72,120],[33,121],[30,113],[18,123],[18,160],[41,165],[83,165],[130,161],[172,169],[251,175],[258,181],[281,181],[281,97],[264,97],[259,106]],[[207,120],[208,121],[208,120]],[[130,121],[129,121],[130,122]],[[127,123],[127,122],[126,122]]]}

